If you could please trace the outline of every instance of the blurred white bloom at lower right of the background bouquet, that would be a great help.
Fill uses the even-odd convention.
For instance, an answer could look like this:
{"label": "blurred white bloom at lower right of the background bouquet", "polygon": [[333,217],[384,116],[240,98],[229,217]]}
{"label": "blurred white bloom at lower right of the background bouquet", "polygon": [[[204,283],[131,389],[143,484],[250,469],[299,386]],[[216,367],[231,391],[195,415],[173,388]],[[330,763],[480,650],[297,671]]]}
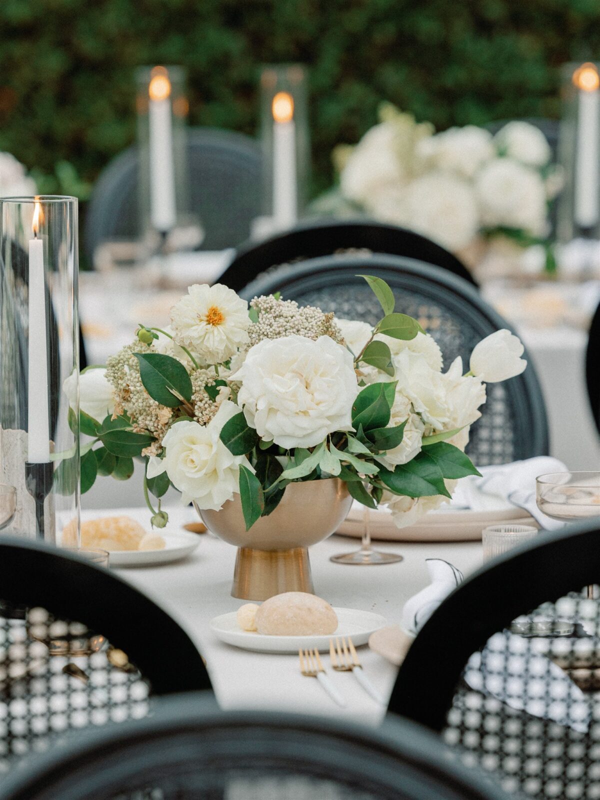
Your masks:
{"label": "blurred white bloom at lower right of the background bouquet", "polygon": [[512,158],[494,158],[476,175],[475,191],[485,226],[545,234],[546,187],[536,170]]}

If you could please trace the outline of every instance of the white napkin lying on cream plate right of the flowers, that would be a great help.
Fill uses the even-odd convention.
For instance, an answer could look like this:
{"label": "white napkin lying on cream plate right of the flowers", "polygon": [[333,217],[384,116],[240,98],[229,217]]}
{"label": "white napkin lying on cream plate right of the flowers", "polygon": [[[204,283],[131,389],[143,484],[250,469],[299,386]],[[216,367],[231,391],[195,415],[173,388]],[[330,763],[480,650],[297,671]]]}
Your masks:
{"label": "white napkin lying on cream plate right of the flowers", "polygon": [[481,478],[469,475],[458,481],[450,506],[474,511],[502,511],[518,506],[529,512],[545,530],[564,526],[564,522],[542,514],[535,502],[535,478],[549,472],[566,471],[558,458],[537,456],[512,464],[482,466],[479,471]]}

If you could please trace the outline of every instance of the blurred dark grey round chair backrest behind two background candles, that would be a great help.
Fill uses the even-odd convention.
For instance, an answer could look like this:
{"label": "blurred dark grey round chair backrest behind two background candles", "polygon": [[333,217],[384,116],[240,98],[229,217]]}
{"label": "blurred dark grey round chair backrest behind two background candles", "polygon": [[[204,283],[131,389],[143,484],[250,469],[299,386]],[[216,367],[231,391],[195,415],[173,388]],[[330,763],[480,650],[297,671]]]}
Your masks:
{"label": "blurred dark grey round chair backrest behind two background candles", "polygon": [[[190,210],[205,230],[203,250],[222,250],[250,236],[250,222],[261,213],[261,150],[253,138],[231,130],[187,131]],[[102,172],[86,214],[86,256],[93,262],[102,242],[139,234],[139,155],[124,150]]]}

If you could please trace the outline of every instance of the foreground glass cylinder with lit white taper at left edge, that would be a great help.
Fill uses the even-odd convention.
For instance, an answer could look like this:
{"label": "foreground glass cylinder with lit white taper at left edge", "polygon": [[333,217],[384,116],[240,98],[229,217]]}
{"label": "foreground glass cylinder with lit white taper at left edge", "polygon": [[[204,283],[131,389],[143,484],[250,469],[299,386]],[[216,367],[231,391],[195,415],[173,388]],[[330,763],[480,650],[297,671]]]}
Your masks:
{"label": "foreground glass cylinder with lit white taper at left edge", "polygon": [[2,530],[79,538],[77,198],[0,199],[0,483],[16,488]]}

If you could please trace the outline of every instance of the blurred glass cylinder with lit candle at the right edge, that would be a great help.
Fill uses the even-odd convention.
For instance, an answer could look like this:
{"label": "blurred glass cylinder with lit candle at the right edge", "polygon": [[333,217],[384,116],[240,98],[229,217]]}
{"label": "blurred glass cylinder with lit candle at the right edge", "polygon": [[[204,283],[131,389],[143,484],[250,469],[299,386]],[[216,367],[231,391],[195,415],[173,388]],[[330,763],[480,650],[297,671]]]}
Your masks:
{"label": "blurred glass cylinder with lit candle at the right edge", "polygon": [[558,238],[600,238],[600,63],[563,67]]}

